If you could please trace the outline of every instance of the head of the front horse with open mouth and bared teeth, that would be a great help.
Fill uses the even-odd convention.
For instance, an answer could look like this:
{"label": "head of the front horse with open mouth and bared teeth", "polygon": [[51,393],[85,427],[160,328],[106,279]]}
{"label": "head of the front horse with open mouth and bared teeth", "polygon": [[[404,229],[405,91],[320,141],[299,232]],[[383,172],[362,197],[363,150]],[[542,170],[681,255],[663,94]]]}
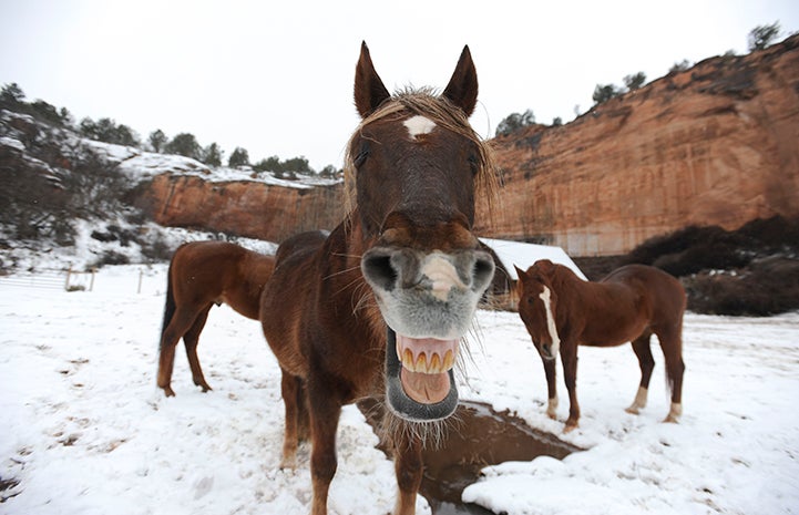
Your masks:
{"label": "head of the front horse with open mouth and bared teeth", "polygon": [[349,216],[362,231],[361,272],[388,328],[388,404],[407,420],[454,411],[459,341],[494,274],[472,233],[475,189],[494,181],[490,152],[468,122],[477,93],[468,48],[441,95],[392,96],[361,47],[355,102],[362,122],[345,166]]}

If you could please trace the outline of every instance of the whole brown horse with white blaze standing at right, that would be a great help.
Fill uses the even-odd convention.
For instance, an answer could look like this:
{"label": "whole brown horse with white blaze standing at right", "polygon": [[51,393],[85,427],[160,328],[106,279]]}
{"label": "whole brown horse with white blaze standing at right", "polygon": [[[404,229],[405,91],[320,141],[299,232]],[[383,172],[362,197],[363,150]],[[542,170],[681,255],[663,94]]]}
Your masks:
{"label": "whole brown horse with white blaze standing at right", "polygon": [[666,360],[672,406],[665,422],[683,413],[683,313],[686,297],[677,279],[654,267],[627,265],[598,282],[584,281],[570,268],[549,259],[519,274],[519,315],[544,362],[549,389],[546,413],[555,418],[557,389],[555,357],[559,348],[568,390],[565,431],[577,426],[577,343],[612,347],[633,342],[641,364],[641,385],[627,408],[638,413],[646,405],[649,378],[655,367],[649,337],[656,334]]}

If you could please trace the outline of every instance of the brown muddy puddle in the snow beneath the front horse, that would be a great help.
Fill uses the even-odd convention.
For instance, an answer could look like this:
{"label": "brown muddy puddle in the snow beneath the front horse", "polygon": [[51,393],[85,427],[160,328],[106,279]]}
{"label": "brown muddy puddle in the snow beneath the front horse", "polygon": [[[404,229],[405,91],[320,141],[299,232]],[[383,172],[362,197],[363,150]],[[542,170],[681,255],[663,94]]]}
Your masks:
{"label": "brown muddy puddle in the snow beneath the front horse", "polygon": [[[359,405],[372,425],[379,420],[375,405]],[[420,493],[433,515],[492,515],[481,506],[461,501],[463,488],[478,481],[480,470],[508,461],[531,461],[536,456],[562,460],[580,449],[527,426],[523,420],[498,413],[478,402],[458,405],[440,449],[424,450],[424,476]]]}

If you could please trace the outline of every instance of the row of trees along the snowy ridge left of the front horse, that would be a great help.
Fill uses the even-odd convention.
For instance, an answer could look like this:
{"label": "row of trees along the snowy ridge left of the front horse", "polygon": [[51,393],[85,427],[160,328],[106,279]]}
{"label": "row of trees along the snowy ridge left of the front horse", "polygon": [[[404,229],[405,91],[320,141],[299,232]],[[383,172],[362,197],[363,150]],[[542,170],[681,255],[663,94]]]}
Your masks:
{"label": "row of trees along the snowy ridge left of the front horse", "polygon": [[[194,134],[180,133],[168,137],[160,128],[151,132],[146,142],[142,142],[134,130],[125,124],[116,123],[113,119],[84,117],[80,122],[75,122],[66,107],[59,109],[39,99],[27,102],[24,92],[16,82],[6,84],[0,91],[0,109],[29,114],[42,122],[75,131],[83,137],[103,143],[132,146],[158,154],[182,155],[214,167],[219,167],[224,163],[224,151],[217,143],[202,146]],[[255,172],[270,172],[277,177],[288,179],[297,178],[298,174],[318,174],[324,177],[334,177],[340,174],[340,171],[332,165],[327,165],[317,173],[305,156],[281,159],[275,155],[257,163],[250,163],[249,153],[240,146],[231,153],[227,166],[232,168],[250,167]]]}

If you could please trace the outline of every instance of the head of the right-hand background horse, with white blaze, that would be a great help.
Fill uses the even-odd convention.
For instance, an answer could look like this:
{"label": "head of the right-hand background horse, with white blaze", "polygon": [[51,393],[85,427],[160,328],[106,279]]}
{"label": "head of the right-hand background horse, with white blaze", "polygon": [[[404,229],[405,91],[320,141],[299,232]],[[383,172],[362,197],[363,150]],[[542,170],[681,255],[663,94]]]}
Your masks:
{"label": "head of the right-hand background horse, with white blaze", "polygon": [[535,261],[527,271],[516,267],[519,315],[533,339],[533,344],[545,359],[555,359],[561,346],[555,325],[557,292],[552,287],[554,271],[555,265],[549,259]]}

